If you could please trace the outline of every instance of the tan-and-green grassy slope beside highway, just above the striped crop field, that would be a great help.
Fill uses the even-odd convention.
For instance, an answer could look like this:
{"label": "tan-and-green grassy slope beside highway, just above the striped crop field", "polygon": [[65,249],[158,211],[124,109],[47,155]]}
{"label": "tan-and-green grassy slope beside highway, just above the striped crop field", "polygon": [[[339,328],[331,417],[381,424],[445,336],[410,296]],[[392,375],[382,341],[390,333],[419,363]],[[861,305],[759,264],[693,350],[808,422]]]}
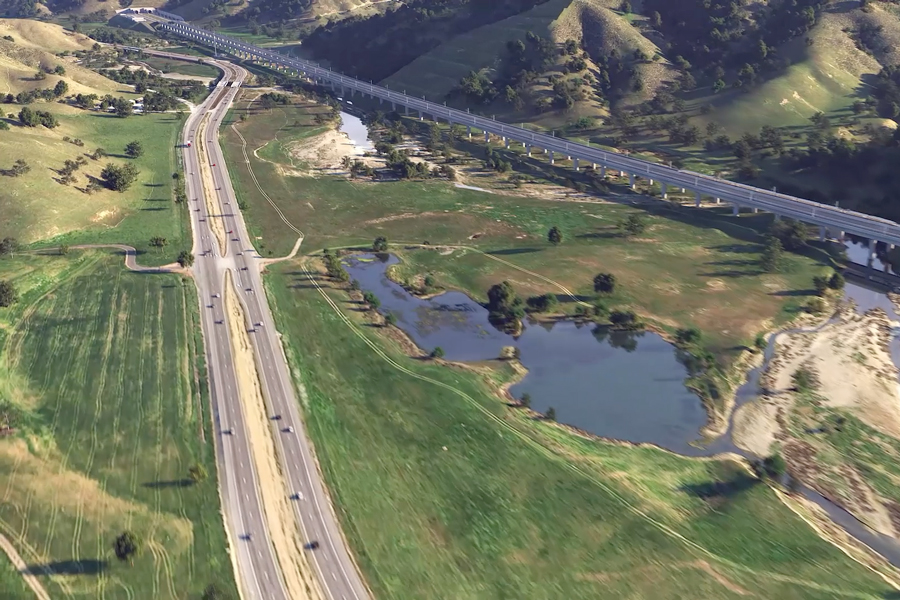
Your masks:
{"label": "tan-and-green grassy slope beside highway, just above the striped crop field", "polygon": [[[0,131],[0,154],[8,157],[2,168],[24,158],[31,171],[20,177],[4,177],[0,188],[0,236],[12,235],[21,242],[123,243],[145,253],[147,264],[172,262],[181,250],[190,248],[190,224],[185,207],[175,204],[172,173],[177,170],[175,145],[183,118],[175,114],[151,114],[127,119],[94,111],[82,111],[61,105],[38,105],[54,112],[60,121],[57,129],[13,126]],[[0,104],[4,112],[19,107]],[[81,138],[85,145],[75,146],[63,136]],[[108,162],[123,163],[125,145],[139,140],[144,155],[133,162],[140,176],[124,193],[104,189],[92,195],[84,193],[85,175],[99,178]],[[77,172],[77,181],[63,185],[57,170],[65,160],[75,160],[95,148],[111,155],[88,159]],[[150,251],[150,238],[160,235],[168,240],[161,252]]]}

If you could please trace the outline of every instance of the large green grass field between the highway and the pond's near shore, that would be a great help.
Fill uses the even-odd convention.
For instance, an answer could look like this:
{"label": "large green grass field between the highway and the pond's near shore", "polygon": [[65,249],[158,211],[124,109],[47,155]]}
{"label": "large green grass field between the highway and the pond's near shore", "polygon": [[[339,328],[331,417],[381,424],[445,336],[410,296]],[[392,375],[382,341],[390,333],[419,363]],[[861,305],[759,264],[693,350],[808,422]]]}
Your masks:
{"label": "large green grass field between the highway and the pond's near shore", "polygon": [[575,438],[348,326],[297,264],[266,285],[376,597],[889,597],[735,466]]}

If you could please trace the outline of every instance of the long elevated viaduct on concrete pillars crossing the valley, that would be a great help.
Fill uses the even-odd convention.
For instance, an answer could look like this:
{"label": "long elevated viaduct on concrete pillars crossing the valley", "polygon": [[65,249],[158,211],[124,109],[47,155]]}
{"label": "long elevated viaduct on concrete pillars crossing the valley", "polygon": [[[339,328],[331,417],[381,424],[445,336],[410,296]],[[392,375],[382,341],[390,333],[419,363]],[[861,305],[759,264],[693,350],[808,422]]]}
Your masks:
{"label": "long elevated viaduct on concrete pillars crossing the valley", "polygon": [[594,168],[599,166],[604,176],[607,169],[618,171],[621,175],[628,175],[632,189],[635,186],[636,178],[640,177],[649,180],[651,184],[654,181],[659,182],[664,198],[669,187],[681,188],[694,192],[696,206],[699,206],[701,198],[706,196],[715,198],[716,202],[730,203],[735,215],[741,208],[746,207],[818,225],[821,239],[825,238],[829,230],[835,232],[838,237],[843,237],[844,233],[852,233],[869,240],[870,255],[874,255],[876,242],[884,242],[890,247],[900,244],[900,224],[894,221],[735,183],[719,177],[684,171],[507,125],[501,121],[474,115],[468,110],[456,110],[443,104],[429,102],[424,98],[414,98],[405,93],[347,77],[314,62],[288,57],[195,27],[183,21],[159,20],[156,25],[160,29],[201,44],[214,46],[217,51],[221,49],[240,58],[256,60],[271,68],[287,71],[297,76],[305,75],[316,83],[330,85],[333,90],[340,89],[342,95],[348,91],[351,95],[360,92],[369,97],[378,98],[381,102],[390,102],[394,110],[397,105],[400,105],[406,109],[407,114],[409,110],[414,110],[422,118],[427,115],[435,120],[444,119],[449,123],[464,125],[468,128],[469,136],[472,135],[472,129],[475,128],[484,133],[486,141],[493,134],[502,138],[507,147],[511,141],[520,142],[527,149],[528,156],[531,156],[533,148],[543,149],[549,154],[551,164],[557,155],[561,155],[573,161],[575,170],[578,170],[582,164],[590,164]]}

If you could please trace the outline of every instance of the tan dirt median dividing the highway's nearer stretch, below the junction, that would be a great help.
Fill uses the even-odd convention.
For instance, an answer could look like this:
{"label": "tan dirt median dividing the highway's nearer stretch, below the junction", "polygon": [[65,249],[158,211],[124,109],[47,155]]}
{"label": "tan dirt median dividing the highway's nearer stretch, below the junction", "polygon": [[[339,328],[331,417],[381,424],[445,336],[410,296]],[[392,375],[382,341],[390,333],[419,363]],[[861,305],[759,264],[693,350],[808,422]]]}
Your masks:
{"label": "tan dirt median dividing the highway's nearer stretch, below the junction", "polygon": [[230,273],[225,281],[225,312],[231,329],[231,345],[237,372],[238,388],[244,421],[247,424],[253,463],[259,477],[259,492],[265,507],[265,518],[275,555],[284,573],[288,593],[293,600],[320,600],[323,598],[318,581],[306,561],[300,528],[294,517],[288,489],[278,466],[275,440],[269,422],[269,411],[263,399],[262,388],[244,310],[232,285]]}

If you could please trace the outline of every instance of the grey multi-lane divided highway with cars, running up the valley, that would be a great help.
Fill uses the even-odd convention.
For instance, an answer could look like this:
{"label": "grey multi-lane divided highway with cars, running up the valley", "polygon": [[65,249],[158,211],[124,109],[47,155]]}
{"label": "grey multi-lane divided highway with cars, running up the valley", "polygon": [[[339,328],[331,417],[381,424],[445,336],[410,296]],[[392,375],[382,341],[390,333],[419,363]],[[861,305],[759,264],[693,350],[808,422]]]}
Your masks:
{"label": "grey multi-lane divided highway with cars, running up the valley", "polygon": [[[145,52],[196,60],[171,53]],[[194,232],[193,273],[200,295],[213,419],[218,436],[217,459],[223,510],[232,544],[236,548],[238,580],[243,588],[243,598],[287,600],[289,595],[266,527],[244,423],[228,318],[222,299],[226,271],[231,273],[231,281],[248,320],[263,396],[272,412],[269,416],[280,416],[278,420],[270,418],[269,423],[275,429],[273,435],[279,462],[289,486],[284,493],[293,498],[292,505],[302,525],[304,539],[319,543],[317,549],[308,550],[310,563],[317,571],[327,598],[367,600],[369,592],[344,544],[300,418],[290,370],[262,285],[261,257],[250,242],[218,142],[218,128],[240,89],[232,83],[242,82],[246,71],[221,61],[207,59],[206,62],[219,65],[226,75],[210,97],[189,117],[182,143],[185,146],[186,192]],[[206,115],[209,119],[204,130],[201,123]],[[196,137],[199,134],[204,134],[206,138],[202,144]],[[187,148],[189,141],[191,147]],[[216,189],[210,192],[214,194],[211,200],[217,214],[207,214],[207,204],[203,202],[197,156],[200,151],[207,153],[207,161],[211,165]],[[213,232],[213,219],[221,220],[224,231],[233,232],[226,234],[224,254],[220,252]],[[233,433],[228,433],[232,429]]]}

